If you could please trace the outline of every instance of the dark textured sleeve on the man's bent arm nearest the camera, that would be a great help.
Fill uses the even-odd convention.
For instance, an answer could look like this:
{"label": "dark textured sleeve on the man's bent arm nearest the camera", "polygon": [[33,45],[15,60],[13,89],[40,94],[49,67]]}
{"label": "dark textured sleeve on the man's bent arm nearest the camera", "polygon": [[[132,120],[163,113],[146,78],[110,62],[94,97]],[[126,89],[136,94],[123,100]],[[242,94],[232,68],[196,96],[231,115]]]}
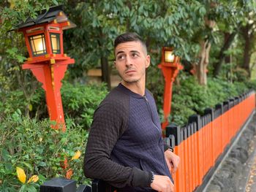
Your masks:
{"label": "dark textured sleeve on the man's bent arm nearest the camera", "polygon": [[110,159],[116,141],[127,128],[127,120],[124,120],[124,115],[111,103],[102,104],[94,112],[94,121],[86,145],[84,174],[86,177],[105,180],[117,188],[126,185],[149,187],[151,172],[122,166]]}

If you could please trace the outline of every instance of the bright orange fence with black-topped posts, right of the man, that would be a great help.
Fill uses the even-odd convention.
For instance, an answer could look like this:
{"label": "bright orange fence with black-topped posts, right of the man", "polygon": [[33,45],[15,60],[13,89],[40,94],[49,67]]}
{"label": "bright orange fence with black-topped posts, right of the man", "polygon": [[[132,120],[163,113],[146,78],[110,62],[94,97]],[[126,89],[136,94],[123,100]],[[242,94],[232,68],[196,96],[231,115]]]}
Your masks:
{"label": "bright orange fence with black-topped posts, right of the man", "polygon": [[254,110],[252,91],[206,109],[203,116],[190,116],[187,126],[167,126],[167,142],[181,158],[173,175],[176,192],[200,188]]}

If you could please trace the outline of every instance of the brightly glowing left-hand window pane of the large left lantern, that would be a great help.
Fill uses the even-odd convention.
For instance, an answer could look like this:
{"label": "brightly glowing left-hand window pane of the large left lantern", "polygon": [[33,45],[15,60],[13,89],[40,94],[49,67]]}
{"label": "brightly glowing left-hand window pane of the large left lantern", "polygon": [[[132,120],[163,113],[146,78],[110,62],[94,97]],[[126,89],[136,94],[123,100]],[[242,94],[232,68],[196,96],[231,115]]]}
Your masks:
{"label": "brightly glowing left-hand window pane of the large left lantern", "polygon": [[29,37],[33,56],[45,55],[45,34],[37,34]]}

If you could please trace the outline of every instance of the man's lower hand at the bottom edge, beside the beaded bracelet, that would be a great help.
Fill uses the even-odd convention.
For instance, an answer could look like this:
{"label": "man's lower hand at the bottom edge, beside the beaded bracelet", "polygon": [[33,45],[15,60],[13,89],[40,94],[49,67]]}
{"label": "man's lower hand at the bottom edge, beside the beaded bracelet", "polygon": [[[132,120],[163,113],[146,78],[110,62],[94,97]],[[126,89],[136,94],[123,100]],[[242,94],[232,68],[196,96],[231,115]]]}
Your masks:
{"label": "man's lower hand at the bottom edge, beside the beaded bracelet", "polygon": [[151,188],[161,192],[174,192],[174,185],[170,178],[163,175],[155,175],[151,183]]}

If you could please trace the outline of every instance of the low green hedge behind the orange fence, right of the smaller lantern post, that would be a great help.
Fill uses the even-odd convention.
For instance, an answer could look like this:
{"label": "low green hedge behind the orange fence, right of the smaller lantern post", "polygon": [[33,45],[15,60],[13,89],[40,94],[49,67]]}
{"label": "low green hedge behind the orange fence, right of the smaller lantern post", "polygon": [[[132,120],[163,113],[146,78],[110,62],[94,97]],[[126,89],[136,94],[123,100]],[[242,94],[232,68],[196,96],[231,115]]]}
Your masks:
{"label": "low green hedge behind the orange fence, right of the smaller lantern post", "polygon": [[241,93],[256,90],[256,81],[227,82],[217,78],[208,78],[207,86],[198,85],[195,77],[184,77],[180,85],[173,86],[173,101],[170,122],[183,126],[190,115],[203,115],[206,107],[239,96]]}

